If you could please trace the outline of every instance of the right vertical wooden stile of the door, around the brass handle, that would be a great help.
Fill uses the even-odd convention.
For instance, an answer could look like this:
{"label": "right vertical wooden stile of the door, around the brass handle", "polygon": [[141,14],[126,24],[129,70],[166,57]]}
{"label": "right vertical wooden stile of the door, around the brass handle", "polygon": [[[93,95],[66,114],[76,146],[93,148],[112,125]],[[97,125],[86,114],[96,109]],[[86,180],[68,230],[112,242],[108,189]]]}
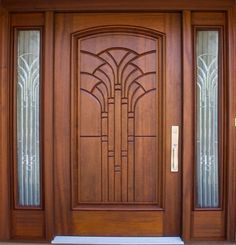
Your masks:
{"label": "right vertical wooden stile of the door, around the brass handle", "polygon": [[[165,235],[173,236],[181,233],[181,176],[182,176],[182,85],[183,81],[181,62],[181,16],[178,14],[166,18],[166,71],[160,70],[165,75],[165,85],[163,93],[165,122],[163,125],[162,142],[165,144],[165,154],[163,156],[163,168],[165,173]],[[179,171],[172,173],[170,171],[171,163],[171,127],[179,126],[179,152],[178,162]],[[174,218],[175,217],[175,218]]]}

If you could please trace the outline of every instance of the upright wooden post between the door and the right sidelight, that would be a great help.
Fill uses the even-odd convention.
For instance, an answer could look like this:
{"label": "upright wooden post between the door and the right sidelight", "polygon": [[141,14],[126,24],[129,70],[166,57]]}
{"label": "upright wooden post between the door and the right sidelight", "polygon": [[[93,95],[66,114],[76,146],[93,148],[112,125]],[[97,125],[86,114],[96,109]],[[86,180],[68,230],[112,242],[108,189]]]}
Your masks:
{"label": "upright wooden post between the door and the right sidelight", "polygon": [[193,105],[193,54],[191,12],[183,12],[183,238],[190,240],[191,209],[193,196],[193,119],[189,112]]}

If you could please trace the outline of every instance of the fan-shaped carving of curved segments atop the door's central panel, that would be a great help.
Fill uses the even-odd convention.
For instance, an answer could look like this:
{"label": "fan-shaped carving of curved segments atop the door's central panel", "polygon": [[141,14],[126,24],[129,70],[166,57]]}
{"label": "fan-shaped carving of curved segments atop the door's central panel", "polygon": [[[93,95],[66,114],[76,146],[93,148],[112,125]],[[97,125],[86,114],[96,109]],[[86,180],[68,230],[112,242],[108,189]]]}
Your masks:
{"label": "fan-shaped carving of curved segments atop the door's central panel", "polygon": [[[85,69],[85,71],[81,70],[81,88],[93,94],[103,109],[107,108],[108,98],[114,97],[115,84],[121,85],[122,97],[128,98],[132,111],[141,96],[141,91],[143,96],[155,89],[155,50],[138,54],[131,49],[115,47],[98,54],[82,50],[81,54],[84,59],[81,69]],[[145,63],[149,66],[145,66]],[[145,77],[148,79],[142,79]],[[106,89],[98,89],[101,84]],[[137,96],[136,89],[132,89],[133,86],[139,87],[140,96]]]}

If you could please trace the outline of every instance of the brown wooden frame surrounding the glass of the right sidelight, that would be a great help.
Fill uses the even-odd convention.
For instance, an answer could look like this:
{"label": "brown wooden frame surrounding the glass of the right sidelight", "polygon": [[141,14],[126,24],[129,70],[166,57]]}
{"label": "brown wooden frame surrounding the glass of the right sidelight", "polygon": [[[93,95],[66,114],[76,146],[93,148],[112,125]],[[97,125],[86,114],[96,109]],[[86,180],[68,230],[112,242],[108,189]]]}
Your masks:
{"label": "brown wooden frame surrounding the glass of the right sidelight", "polygon": [[[206,18],[201,18],[203,15]],[[214,16],[215,15],[215,16]],[[217,25],[214,25],[214,18],[217,17]],[[227,87],[228,81],[226,79],[226,67],[227,59],[225,52],[226,44],[226,18],[224,12],[215,12],[212,15],[210,12],[193,12],[192,16],[192,42],[193,42],[193,75],[194,75],[194,116],[192,118],[194,125],[194,190],[193,190],[193,210],[192,210],[192,223],[191,223],[191,237],[194,240],[224,240],[225,228],[226,228],[226,149],[228,147],[228,142],[226,141],[226,123],[227,123]],[[208,23],[210,22],[210,25]],[[218,169],[219,169],[219,207],[217,208],[200,208],[196,206],[196,196],[197,196],[197,178],[196,178],[196,83],[197,83],[197,72],[196,72],[196,35],[197,31],[217,31],[219,34],[219,53],[218,53]],[[210,221],[211,220],[211,221]],[[205,227],[203,224],[205,223]],[[214,230],[212,228],[214,227]],[[208,234],[208,235],[207,235]],[[210,238],[211,237],[211,238]]]}

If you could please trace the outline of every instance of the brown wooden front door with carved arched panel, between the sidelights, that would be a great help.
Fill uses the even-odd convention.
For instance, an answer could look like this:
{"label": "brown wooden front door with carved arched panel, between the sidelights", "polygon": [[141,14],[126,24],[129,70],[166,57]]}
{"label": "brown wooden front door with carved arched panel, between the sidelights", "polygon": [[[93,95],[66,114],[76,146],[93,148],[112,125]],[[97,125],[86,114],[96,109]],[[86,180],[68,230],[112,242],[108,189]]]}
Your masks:
{"label": "brown wooden front door with carved arched panel, between the sidelights", "polygon": [[[57,235],[180,235],[181,15],[55,18]],[[179,149],[181,152],[181,138]]]}

